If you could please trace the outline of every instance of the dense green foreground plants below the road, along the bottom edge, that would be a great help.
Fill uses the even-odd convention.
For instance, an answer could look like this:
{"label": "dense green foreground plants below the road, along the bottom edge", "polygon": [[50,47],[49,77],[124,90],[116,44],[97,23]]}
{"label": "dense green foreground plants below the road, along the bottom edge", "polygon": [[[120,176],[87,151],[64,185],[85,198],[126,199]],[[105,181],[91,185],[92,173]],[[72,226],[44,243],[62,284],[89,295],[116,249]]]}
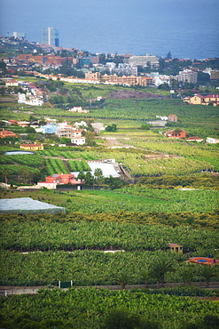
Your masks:
{"label": "dense green foreground plants below the road, along the bottom edge", "polygon": [[185,329],[188,325],[207,329],[218,325],[215,302],[164,294],[56,289],[28,298],[13,296],[1,304],[1,325],[7,329],[14,325],[18,329]]}

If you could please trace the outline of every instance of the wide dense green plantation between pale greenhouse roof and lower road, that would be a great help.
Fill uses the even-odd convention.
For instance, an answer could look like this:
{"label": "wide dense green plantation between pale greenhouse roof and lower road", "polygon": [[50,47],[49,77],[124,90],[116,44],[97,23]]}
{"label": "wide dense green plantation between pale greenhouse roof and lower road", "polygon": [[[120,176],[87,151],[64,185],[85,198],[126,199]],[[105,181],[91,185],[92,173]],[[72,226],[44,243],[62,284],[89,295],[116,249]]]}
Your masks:
{"label": "wide dense green plantation between pale greenhouse roof and lower road", "polygon": [[[196,214],[181,216],[184,226],[180,221],[176,225],[174,215],[155,213],[1,215],[0,284],[57,285],[61,279],[73,280],[74,285],[116,285],[116,277],[124,271],[129,284],[139,284],[144,283],[142,271],[160,259],[173,264],[168,282],[184,282],[186,253],[218,258],[219,236],[210,230],[214,214],[208,218],[206,214],[204,221],[201,216],[205,229],[192,229],[199,224]],[[184,255],[169,252],[169,242],[183,245]],[[104,253],[109,250],[121,252]],[[192,267],[194,281],[204,279],[201,268]],[[215,272],[212,277],[216,276]],[[155,278],[152,275],[148,281]]]}

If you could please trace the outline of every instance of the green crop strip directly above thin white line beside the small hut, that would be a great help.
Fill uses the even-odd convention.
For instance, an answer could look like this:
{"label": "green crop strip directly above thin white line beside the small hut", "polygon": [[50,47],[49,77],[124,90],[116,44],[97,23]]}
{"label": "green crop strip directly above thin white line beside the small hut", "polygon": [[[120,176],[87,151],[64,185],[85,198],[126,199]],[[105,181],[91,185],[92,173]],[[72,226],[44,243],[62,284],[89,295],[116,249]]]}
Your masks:
{"label": "green crop strip directly above thin white line beside the small hut", "polygon": [[[136,224],[128,221],[134,216],[134,214],[128,213],[123,213],[123,218],[127,219],[127,222],[120,221],[121,213],[117,213],[115,216],[117,221],[114,221],[113,216],[104,214],[104,222],[100,221],[101,215],[86,217],[78,214],[81,220],[77,221],[76,214],[75,216],[69,214],[60,222],[58,221],[59,216],[53,216],[52,221],[50,217],[46,216],[43,220],[43,216],[42,214],[35,215],[35,221],[30,220],[31,216],[28,215],[26,215],[25,221],[20,221],[19,218],[14,219],[14,215],[7,216],[7,220],[3,218],[0,225],[1,249],[16,251],[57,251],[60,249],[65,251],[76,249],[156,251],[167,250],[168,243],[177,243],[184,246],[186,253],[192,251],[197,256],[211,253],[215,258],[219,258],[219,250],[215,250],[217,241],[219,241],[219,232],[216,230],[213,234],[207,229],[198,230],[188,226],[172,228],[155,225],[152,215],[148,215],[148,217],[145,215],[145,220],[148,219],[149,223]],[[143,216],[144,214],[139,215],[141,218]],[[186,219],[188,217],[189,213],[185,215]],[[197,216],[194,215],[193,221],[196,221],[196,218]],[[209,216],[207,219],[210,221]],[[171,217],[166,218],[167,223],[168,220],[171,224]],[[192,214],[190,220],[192,221]],[[150,225],[151,223],[153,225]]]}

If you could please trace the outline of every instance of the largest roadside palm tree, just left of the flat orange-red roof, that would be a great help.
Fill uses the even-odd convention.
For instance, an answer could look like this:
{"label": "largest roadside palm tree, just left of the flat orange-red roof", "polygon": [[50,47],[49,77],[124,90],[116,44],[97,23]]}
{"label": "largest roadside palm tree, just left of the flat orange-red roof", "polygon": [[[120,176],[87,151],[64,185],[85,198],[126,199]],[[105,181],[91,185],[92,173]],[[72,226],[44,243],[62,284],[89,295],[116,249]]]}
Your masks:
{"label": "largest roadside palm tree, just left of the flat orange-red roof", "polygon": [[172,260],[167,258],[160,258],[155,261],[150,268],[151,277],[154,277],[157,280],[157,286],[161,283],[161,287],[164,287],[165,275],[168,272],[174,272],[175,265]]}

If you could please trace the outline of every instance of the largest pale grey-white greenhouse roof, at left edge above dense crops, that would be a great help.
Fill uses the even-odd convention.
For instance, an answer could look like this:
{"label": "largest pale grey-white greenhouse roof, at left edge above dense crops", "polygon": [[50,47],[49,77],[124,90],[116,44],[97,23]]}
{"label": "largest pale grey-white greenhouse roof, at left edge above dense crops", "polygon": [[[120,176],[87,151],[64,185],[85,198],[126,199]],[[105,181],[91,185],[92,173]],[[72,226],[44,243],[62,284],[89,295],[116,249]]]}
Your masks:
{"label": "largest pale grey-white greenhouse roof, at left edge above dense crops", "polygon": [[66,208],[46,204],[31,197],[0,200],[0,213],[65,213]]}

